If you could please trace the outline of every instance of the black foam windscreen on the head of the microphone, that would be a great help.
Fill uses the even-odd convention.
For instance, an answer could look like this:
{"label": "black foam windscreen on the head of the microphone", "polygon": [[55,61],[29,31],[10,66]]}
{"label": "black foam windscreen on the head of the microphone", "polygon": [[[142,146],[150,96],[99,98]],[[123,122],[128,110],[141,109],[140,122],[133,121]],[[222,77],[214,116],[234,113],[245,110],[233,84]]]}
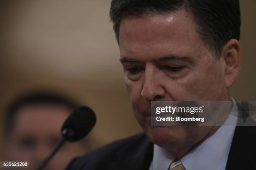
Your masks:
{"label": "black foam windscreen on the head of the microphone", "polygon": [[[92,109],[81,106],[75,109],[64,122],[61,133],[63,138],[74,142],[87,135],[96,123],[96,116]],[[64,136],[64,130],[72,130],[72,135]]]}

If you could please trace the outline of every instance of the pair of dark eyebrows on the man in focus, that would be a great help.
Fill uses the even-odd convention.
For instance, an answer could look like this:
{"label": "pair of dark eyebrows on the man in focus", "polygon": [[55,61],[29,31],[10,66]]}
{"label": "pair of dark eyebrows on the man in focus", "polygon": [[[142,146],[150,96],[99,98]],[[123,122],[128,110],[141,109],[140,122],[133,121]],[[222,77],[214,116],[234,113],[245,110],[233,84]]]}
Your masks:
{"label": "pair of dark eyebrows on the man in focus", "polygon": [[[184,55],[167,55],[165,57],[160,57],[158,59],[154,59],[153,62],[158,61],[169,61],[169,60],[176,60],[176,61],[185,61],[189,63],[193,63],[191,57],[184,56]],[[129,57],[123,57],[120,59],[121,63],[143,63],[141,60],[135,60]]]}

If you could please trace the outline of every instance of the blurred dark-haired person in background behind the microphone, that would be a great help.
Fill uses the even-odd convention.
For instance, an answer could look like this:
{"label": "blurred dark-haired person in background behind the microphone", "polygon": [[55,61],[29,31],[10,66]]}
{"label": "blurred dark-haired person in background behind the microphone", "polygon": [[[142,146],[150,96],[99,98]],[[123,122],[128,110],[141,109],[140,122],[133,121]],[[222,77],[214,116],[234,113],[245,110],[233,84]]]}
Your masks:
{"label": "blurred dark-haired person in background behind the microphone", "polygon": [[[62,124],[75,107],[73,100],[52,92],[32,92],[18,97],[6,114],[5,160],[28,161],[29,169],[35,169],[61,140]],[[88,139],[66,143],[45,169],[64,169],[71,158],[88,149]]]}

